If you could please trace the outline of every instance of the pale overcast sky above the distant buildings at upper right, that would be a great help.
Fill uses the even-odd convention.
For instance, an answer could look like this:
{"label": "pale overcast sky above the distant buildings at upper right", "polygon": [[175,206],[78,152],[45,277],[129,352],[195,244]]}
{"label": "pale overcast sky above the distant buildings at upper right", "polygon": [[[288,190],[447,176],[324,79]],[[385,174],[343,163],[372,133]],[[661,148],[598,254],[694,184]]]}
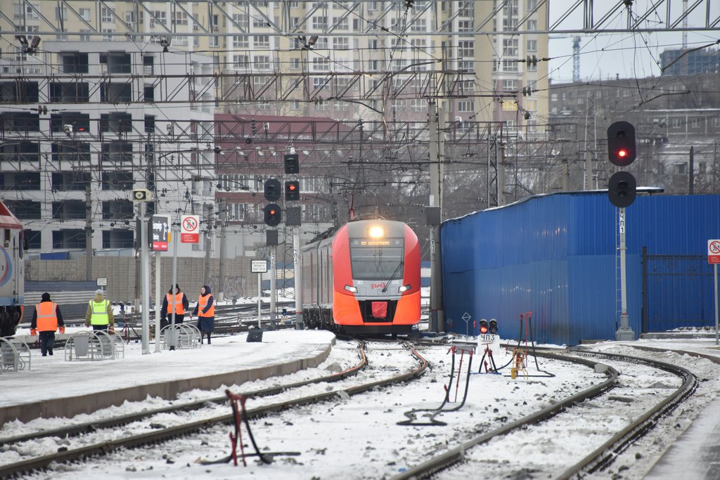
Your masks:
{"label": "pale overcast sky above the distant buildings at upper right", "polygon": [[[669,0],[668,0],[669,1]],[[566,11],[570,0],[552,0],[550,17],[559,17]],[[595,2],[599,6],[595,9],[595,20],[602,17],[607,9],[607,4],[616,2]],[[667,2],[665,2],[667,3]],[[635,12],[646,12],[647,0],[634,2]],[[693,4],[693,2],[690,2]],[[673,11],[682,8],[682,2],[672,2]],[[560,28],[570,29],[582,24],[578,8]],[[602,12],[602,13],[601,13]],[[720,5],[711,4],[711,18],[720,15]],[[665,4],[660,6],[657,15],[648,17],[645,25],[652,27],[665,18]],[[673,13],[672,18],[677,18]],[[698,26],[705,22],[705,2],[698,6],[698,9],[690,13],[688,26]],[[608,29],[620,29],[626,27],[626,16],[616,14],[605,24]],[[553,83],[572,81],[572,37],[575,34],[550,35],[549,57],[550,78]],[[598,80],[607,78],[643,78],[646,76],[659,76],[660,53],[666,49],[680,48],[683,45],[682,32],[660,32],[660,33],[613,33],[613,34],[592,34],[581,35],[580,40],[580,78],[582,80]],[[716,32],[688,32],[688,48],[698,47],[715,42],[720,38],[720,30]]]}

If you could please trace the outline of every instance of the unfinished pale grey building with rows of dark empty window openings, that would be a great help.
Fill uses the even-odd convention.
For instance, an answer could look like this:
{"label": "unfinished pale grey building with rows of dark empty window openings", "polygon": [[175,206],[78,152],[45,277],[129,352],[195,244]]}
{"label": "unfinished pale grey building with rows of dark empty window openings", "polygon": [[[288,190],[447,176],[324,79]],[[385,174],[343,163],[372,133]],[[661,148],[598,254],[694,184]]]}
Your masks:
{"label": "unfinished pale grey building with rows of dark empty window openings", "polygon": [[[202,77],[186,76],[210,75],[210,59],[154,44],[108,46],[43,42],[2,67],[10,70],[0,79],[2,199],[31,250],[130,254],[132,189],[153,193],[148,214],[202,213],[213,202],[214,97],[195,93]],[[169,94],[171,108],[155,103]]]}

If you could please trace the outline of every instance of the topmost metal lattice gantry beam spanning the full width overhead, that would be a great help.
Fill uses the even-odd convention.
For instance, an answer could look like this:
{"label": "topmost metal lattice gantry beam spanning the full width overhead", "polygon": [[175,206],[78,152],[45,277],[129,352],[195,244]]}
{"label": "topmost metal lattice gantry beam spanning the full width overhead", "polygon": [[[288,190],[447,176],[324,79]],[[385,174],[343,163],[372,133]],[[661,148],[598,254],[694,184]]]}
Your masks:
{"label": "topmost metal lattice gantry beam spanning the full width overhead", "polygon": [[[128,35],[141,35],[145,27],[140,23],[140,14],[146,15],[157,27],[157,32],[153,35],[163,35],[166,37],[174,37],[176,35],[184,36],[228,36],[236,35],[228,32],[219,32],[214,19],[223,19],[237,29],[237,32],[246,32],[248,27],[242,22],[238,22],[234,14],[238,12],[247,12],[253,18],[257,19],[266,27],[270,27],[271,32],[267,35],[281,37],[295,37],[302,35],[307,27],[312,24],[312,17],[327,12],[328,8],[341,6],[345,14],[337,17],[333,22],[323,29],[323,35],[341,35],[341,36],[372,36],[377,35],[377,24],[373,21],[366,22],[364,27],[356,32],[346,32],[341,30],[341,24],[346,19],[364,19],[367,15],[372,14],[372,19],[382,20],[386,17],[397,15],[398,12],[404,12],[405,2],[399,0],[275,0],[275,1],[257,1],[257,0],[235,0],[235,1],[217,1],[207,0],[197,2],[192,0],[122,0],[122,1],[68,1],[68,0],[21,0],[14,2],[21,6],[20,10],[24,14],[12,15],[11,9],[2,9],[0,12],[0,25],[2,30],[8,35],[25,35],[27,31],[25,27],[25,16],[30,14],[33,17],[39,17],[42,20],[42,28],[35,32],[35,35],[58,35],[80,34],[81,32],[70,32],[66,28],[67,18],[63,16],[48,17],[37,9],[36,5],[47,1],[56,4],[58,8],[66,9],[68,16],[77,19],[83,25],[83,35],[95,35],[98,37],[126,37]],[[10,3],[10,2],[6,2]],[[91,9],[96,11],[89,17],[84,17],[78,12],[76,4],[86,3]],[[507,35],[508,31],[498,32],[492,28],[492,21],[495,16],[505,6],[510,4],[510,0],[498,0],[490,4],[487,2],[487,8],[484,12],[478,14],[480,19],[471,32],[467,30],[449,30],[452,20],[457,17],[458,12],[463,9],[472,8],[474,0],[459,1],[423,1],[417,0],[413,2],[413,9],[408,13],[408,22],[412,24],[423,14],[430,13],[433,17],[440,17],[441,9],[449,8],[449,4],[454,4],[452,13],[444,18],[443,22],[436,22],[435,27],[423,32],[423,35],[446,36],[446,35]],[[126,18],[120,17],[120,14],[114,12],[113,7],[117,4],[131,4],[132,12],[135,15]],[[297,16],[296,10],[298,4],[306,4],[308,7],[305,12]],[[153,6],[165,5],[169,6],[171,12],[178,12],[186,17],[189,24],[192,25],[192,32],[179,32],[174,17],[163,17],[156,14]],[[402,5],[402,8],[399,7]],[[117,30],[114,32],[104,32],[101,25],[101,9],[112,11],[114,23]],[[292,14],[291,14],[292,12]],[[528,23],[528,19],[536,12],[544,12],[546,28],[535,28]],[[624,33],[624,32],[680,32],[680,31],[714,31],[720,24],[720,12],[718,5],[712,0],[696,0],[688,6],[687,0],[657,0],[657,1],[595,1],[595,0],[574,0],[558,5],[557,2],[550,0],[538,0],[535,2],[534,9],[527,12],[518,19],[517,25],[512,28],[514,34],[532,33],[532,34],[581,34],[594,35],[595,33]],[[618,26],[619,25],[619,26]]]}

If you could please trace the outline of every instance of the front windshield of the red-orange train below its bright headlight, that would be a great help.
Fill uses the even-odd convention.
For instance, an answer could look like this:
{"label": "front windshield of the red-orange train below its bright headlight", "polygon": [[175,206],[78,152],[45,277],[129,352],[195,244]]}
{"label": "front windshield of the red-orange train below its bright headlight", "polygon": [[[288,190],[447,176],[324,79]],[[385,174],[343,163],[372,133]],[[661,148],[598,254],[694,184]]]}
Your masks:
{"label": "front windshield of the red-orange train below its bright headlight", "polygon": [[402,279],[402,239],[390,239],[390,245],[362,245],[354,240],[350,257],[355,280]]}

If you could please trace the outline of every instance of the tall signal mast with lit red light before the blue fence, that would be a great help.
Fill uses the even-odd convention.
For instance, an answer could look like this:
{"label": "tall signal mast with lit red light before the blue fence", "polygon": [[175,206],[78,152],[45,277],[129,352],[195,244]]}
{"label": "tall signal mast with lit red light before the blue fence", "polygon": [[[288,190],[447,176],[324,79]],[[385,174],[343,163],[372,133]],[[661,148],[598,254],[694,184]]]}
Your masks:
{"label": "tall signal mast with lit red light before the blue fence", "polygon": [[[610,163],[624,168],[629,166],[636,157],[635,127],[629,122],[615,122],[608,127],[608,158]],[[618,171],[608,182],[608,198],[611,204],[618,207],[618,230],[620,235],[620,327],[615,332],[615,340],[635,340],[635,333],[630,328],[627,313],[627,281],[626,281],[626,245],[625,245],[625,208],[635,201],[637,182],[635,177],[626,171]]]}

